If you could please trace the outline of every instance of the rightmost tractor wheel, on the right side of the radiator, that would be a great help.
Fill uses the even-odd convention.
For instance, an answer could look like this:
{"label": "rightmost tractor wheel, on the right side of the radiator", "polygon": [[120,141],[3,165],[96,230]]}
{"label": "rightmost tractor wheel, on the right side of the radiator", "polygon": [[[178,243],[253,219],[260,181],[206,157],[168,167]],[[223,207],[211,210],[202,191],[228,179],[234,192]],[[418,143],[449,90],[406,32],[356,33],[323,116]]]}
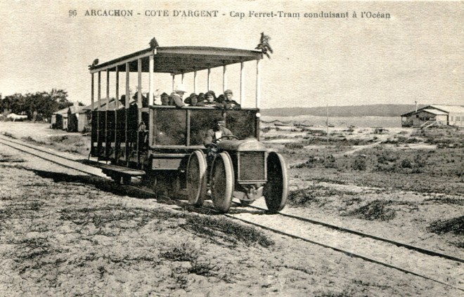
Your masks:
{"label": "rightmost tractor wheel, on the right side of the radiator", "polygon": [[281,154],[276,152],[269,152],[267,157],[267,183],[263,194],[271,213],[281,211],[287,203],[287,166]]}

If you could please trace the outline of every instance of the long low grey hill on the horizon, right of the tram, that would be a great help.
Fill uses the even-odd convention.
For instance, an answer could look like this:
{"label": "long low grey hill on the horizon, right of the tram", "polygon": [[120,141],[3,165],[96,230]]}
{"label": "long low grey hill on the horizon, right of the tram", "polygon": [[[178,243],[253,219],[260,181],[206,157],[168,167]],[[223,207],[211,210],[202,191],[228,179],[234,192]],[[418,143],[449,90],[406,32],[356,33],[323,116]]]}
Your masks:
{"label": "long low grey hill on the horizon, right of the tram", "polygon": [[[418,108],[427,105],[418,105]],[[401,114],[415,110],[415,105],[375,104],[352,106],[329,106],[329,117],[399,117]],[[326,117],[327,107],[286,107],[262,109],[261,114],[268,117],[292,117],[314,115]]]}

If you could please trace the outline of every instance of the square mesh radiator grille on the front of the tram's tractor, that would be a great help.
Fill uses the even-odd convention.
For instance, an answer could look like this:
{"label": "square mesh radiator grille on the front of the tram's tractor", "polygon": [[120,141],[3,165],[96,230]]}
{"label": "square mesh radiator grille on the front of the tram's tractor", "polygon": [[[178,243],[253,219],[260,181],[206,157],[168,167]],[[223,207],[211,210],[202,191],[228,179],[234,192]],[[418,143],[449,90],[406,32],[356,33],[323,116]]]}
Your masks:
{"label": "square mesh radiator grille on the front of the tram's tractor", "polygon": [[265,152],[240,152],[239,175],[241,181],[266,180]]}

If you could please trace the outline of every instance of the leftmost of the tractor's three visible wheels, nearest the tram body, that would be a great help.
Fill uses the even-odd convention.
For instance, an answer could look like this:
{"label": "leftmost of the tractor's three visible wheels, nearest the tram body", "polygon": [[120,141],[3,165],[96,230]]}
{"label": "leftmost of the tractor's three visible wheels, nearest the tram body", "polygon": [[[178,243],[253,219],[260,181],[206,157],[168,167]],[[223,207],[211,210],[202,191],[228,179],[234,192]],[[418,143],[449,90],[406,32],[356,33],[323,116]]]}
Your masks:
{"label": "leftmost of the tractor's three visible wheels, nearest the tram body", "polygon": [[188,203],[202,206],[206,195],[206,157],[200,150],[190,154],[187,164]]}

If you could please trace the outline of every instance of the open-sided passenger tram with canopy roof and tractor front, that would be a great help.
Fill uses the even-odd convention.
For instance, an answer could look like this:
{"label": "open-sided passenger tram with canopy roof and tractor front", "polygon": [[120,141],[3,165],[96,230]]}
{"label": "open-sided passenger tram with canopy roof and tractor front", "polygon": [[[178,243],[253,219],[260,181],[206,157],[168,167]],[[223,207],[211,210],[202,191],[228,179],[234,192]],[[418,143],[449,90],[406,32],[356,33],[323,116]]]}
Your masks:
{"label": "open-sided passenger tram with canopy roof and tractor front", "polygon": [[[270,212],[283,209],[288,196],[285,160],[267,150],[259,141],[259,101],[261,51],[205,46],[146,48],[108,62],[91,65],[91,152],[103,173],[117,183],[130,184],[141,177],[153,188],[164,188],[170,196],[183,195],[190,204],[201,206],[211,199],[214,207],[227,212],[233,197],[247,205],[264,197]],[[207,72],[210,90],[211,69],[222,67],[223,87],[227,66],[240,64],[240,103],[245,100],[244,64],[256,62],[255,107],[224,109],[198,106],[154,104],[155,74],[176,77],[193,72],[193,92],[197,93],[197,73]],[[105,98],[102,96],[105,72]],[[138,90],[148,73],[148,102],[138,91],[130,103],[131,75],[137,75]],[[120,77],[125,79],[120,94]],[[146,80],[146,79],[145,79]],[[123,82],[124,83],[124,82]],[[110,103],[110,84],[116,100]],[[125,95],[121,103],[118,98]],[[96,98],[95,98],[96,97]],[[222,119],[233,132],[214,146],[203,145],[205,133]]]}

